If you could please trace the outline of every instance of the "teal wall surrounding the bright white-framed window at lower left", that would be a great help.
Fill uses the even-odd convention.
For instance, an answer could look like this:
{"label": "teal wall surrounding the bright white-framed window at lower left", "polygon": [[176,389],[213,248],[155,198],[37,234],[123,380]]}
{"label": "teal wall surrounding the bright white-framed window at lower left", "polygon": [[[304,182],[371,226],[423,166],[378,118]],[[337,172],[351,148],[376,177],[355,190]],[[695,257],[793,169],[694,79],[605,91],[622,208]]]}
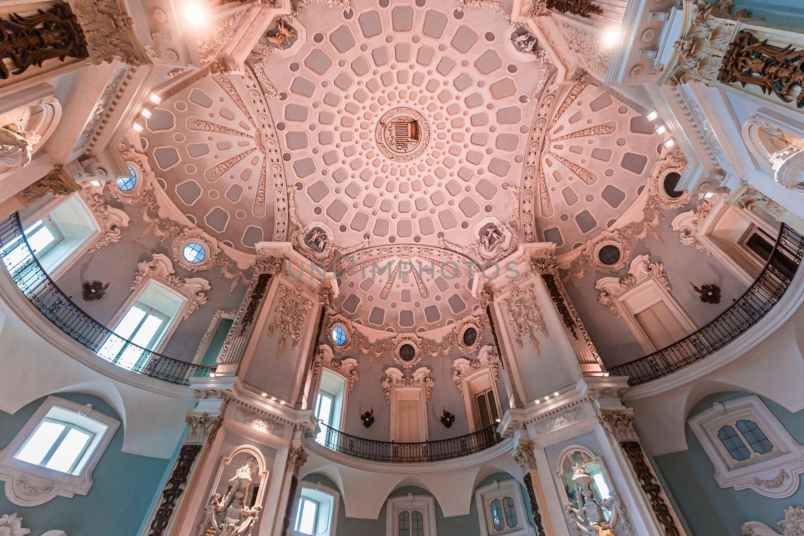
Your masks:
{"label": "teal wall surrounding the bright white-framed window at lower left", "polygon": [[[120,420],[104,400],[80,393],[61,393],[59,398],[92,404],[92,408]],[[43,399],[23,407],[14,415],[0,411],[0,448],[10,443]],[[31,536],[47,530],[64,530],[71,536],[129,536],[150,512],[148,508],[157,492],[169,460],[137,456],[121,452],[123,427],[117,428],[112,442],[92,472],[92,488],[87,495],[72,498],[55,497],[43,505],[23,508],[14,505],[0,493],[0,513],[18,512]]]}

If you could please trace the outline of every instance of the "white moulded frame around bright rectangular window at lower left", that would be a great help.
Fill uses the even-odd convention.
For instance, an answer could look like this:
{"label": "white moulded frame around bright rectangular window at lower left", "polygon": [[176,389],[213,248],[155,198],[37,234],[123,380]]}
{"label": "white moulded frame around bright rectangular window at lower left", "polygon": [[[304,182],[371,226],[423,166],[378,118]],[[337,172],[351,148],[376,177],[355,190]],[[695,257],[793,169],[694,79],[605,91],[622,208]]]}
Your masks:
{"label": "white moulded frame around bright rectangular window at lower left", "polygon": [[[77,471],[74,469],[75,474],[62,473],[55,469],[18,460],[15,457],[23,450],[33,433],[54,407],[80,414],[96,423],[97,431],[89,430],[95,433],[95,437],[89,441],[84,452],[78,457]],[[76,425],[76,423],[71,424]],[[109,448],[118,426],[120,426],[120,421],[92,409],[90,404],[81,405],[54,395],[48,396],[19,429],[14,439],[6,448],[0,450],[0,481],[6,483],[6,497],[18,506],[36,506],[44,504],[54,497],[69,498],[76,493],[86,495],[92,488],[92,472],[106,449]],[[101,429],[103,427],[105,429]],[[78,424],[77,428],[85,427]]]}

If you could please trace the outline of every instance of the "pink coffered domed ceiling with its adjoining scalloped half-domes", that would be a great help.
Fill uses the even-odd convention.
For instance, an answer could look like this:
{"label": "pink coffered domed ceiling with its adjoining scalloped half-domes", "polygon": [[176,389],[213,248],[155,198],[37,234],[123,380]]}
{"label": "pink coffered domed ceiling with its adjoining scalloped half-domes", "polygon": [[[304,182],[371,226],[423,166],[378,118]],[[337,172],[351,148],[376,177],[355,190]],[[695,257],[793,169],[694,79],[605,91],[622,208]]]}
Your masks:
{"label": "pink coffered domed ceiling with its adjoining scalloped half-domes", "polygon": [[142,134],[170,201],[241,252],[289,240],[338,262],[336,307],[386,331],[472,313],[467,266],[520,236],[567,252],[610,227],[658,158],[653,125],[593,85],[547,84],[535,38],[456,6],[305,4],[244,72],[178,84]]}

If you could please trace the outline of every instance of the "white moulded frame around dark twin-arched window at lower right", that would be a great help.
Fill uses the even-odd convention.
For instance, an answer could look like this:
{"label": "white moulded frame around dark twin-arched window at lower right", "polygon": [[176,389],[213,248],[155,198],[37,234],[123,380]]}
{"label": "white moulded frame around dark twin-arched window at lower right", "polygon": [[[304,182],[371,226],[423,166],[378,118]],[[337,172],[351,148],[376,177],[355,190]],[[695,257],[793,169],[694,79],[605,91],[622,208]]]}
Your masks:
{"label": "white moulded frame around dark twin-arched window at lower right", "polygon": [[[737,421],[750,420],[757,425],[773,448],[759,454],[737,428]],[[799,444],[781,425],[757,395],[747,395],[726,402],[716,402],[708,410],[687,419],[715,468],[720,488],[753,489],[765,497],[785,498],[798,490],[804,473],[804,445]],[[735,460],[718,436],[720,429],[731,426],[749,458]]]}

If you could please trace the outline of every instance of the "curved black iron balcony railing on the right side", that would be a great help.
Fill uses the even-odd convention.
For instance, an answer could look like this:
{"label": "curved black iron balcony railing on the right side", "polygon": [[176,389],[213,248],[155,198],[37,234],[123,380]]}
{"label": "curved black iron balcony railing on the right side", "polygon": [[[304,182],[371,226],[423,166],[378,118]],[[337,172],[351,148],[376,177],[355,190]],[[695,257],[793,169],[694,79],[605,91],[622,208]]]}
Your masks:
{"label": "curved black iron balcony railing on the right side", "polygon": [[804,236],[781,225],[765,268],[757,280],[720,316],[670,346],[614,366],[609,373],[629,376],[630,385],[650,382],[697,362],[728,345],[757,323],[784,296],[804,257]]}

